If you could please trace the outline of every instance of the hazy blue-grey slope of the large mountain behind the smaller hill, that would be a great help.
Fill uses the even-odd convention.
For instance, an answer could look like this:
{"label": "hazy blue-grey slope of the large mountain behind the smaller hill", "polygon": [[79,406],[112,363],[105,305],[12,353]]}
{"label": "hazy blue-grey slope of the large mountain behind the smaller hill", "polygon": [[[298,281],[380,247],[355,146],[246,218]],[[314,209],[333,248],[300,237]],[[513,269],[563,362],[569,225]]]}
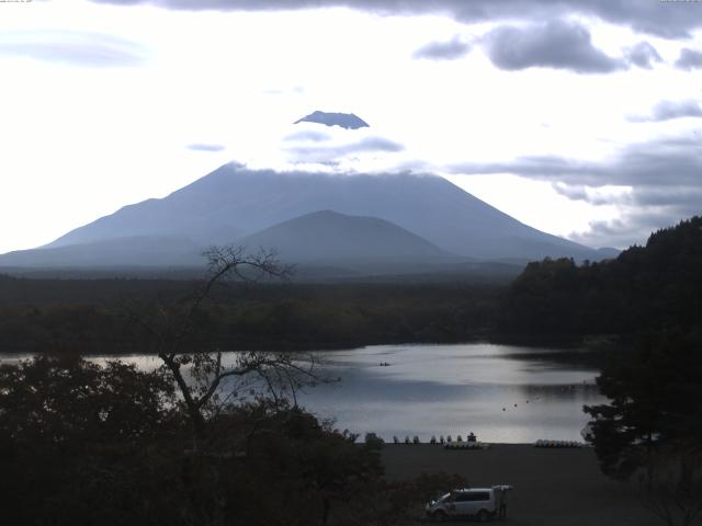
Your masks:
{"label": "hazy blue-grey slope of the large mountain behind the smaller hill", "polygon": [[376,217],[448,252],[482,259],[600,259],[541,232],[432,175],[328,175],[225,164],[162,199],[149,199],[68,232],[49,247],[134,236],[231,242],[317,210]]}

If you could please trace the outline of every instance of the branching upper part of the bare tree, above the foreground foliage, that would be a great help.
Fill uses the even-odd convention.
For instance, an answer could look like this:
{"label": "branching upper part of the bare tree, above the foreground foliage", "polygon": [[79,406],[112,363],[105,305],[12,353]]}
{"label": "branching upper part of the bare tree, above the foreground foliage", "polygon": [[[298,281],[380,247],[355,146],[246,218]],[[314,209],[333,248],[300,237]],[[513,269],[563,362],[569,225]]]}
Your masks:
{"label": "branching upper part of the bare tree, above the foreground foliage", "polygon": [[[244,392],[261,392],[279,401],[309,385],[322,381],[312,355],[246,351],[226,356],[202,332],[203,311],[216,305],[215,289],[230,278],[239,282],[287,279],[291,266],[274,252],[249,254],[242,247],[213,247],[203,254],[208,273],[203,285],[179,301],[161,301],[144,312],[131,308],[131,318],[156,342],[163,368],[172,376],[194,432],[194,447],[207,438],[207,418]],[[226,388],[226,389],[225,389]]]}

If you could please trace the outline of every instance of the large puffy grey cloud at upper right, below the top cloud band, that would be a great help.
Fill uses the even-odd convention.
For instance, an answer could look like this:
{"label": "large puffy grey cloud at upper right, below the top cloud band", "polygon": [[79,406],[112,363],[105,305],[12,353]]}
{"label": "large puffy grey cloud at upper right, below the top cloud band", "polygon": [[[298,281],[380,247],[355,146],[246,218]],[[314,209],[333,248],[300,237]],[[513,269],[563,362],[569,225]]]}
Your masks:
{"label": "large puffy grey cloud at upper right, below the top cloud band", "polygon": [[586,27],[570,22],[501,26],[488,33],[484,42],[492,64],[506,70],[542,67],[608,73],[626,68],[623,60],[596,48]]}

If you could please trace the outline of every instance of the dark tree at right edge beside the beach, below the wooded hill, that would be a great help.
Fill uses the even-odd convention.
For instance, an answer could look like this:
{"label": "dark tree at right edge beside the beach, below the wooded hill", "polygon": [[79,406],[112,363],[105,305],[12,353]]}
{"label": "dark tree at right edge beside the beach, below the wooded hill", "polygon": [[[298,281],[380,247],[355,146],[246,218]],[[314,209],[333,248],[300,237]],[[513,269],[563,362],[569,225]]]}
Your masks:
{"label": "dark tree at right edge beside the beach, below the wooded hill", "polygon": [[605,473],[627,478],[661,450],[702,451],[702,339],[661,332],[618,353],[598,378],[610,402],[586,407]]}

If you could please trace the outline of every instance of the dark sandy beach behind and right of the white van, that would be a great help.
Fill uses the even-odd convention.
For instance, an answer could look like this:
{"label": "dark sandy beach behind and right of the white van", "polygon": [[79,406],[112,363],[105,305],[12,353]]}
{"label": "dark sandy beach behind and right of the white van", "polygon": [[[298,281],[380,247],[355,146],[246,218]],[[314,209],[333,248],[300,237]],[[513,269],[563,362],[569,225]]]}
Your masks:
{"label": "dark sandy beach behind and right of the white van", "polygon": [[[543,449],[497,444],[486,450],[448,450],[440,445],[394,445],[383,449],[388,479],[458,473],[472,487],[511,484],[508,517],[514,526],[654,526],[636,488],[607,478],[589,448]],[[496,521],[497,523],[497,521]]]}

